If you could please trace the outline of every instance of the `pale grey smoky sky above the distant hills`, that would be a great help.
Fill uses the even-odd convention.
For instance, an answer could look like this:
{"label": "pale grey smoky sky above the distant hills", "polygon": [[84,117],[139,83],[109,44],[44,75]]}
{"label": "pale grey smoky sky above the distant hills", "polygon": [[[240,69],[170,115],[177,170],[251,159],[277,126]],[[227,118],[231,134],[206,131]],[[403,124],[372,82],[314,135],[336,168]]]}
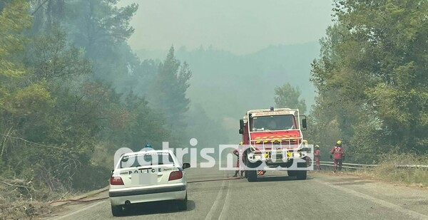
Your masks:
{"label": "pale grey smoky sky above the distant hills", "polygon": [[235,54],[318,41],[332,23],[332,0],[121,0],[139,5],[133,50],[201,45]]}

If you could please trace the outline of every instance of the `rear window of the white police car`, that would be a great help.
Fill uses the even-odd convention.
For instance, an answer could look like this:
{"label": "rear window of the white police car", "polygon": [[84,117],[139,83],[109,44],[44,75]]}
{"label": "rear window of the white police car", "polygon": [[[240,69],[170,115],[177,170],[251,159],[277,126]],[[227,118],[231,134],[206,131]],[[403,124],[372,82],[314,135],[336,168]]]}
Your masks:
{"label": "rear window of the white police car", "polygon": [[123,156],[121,168],[145,167],[153,165],[174,164],[173,157],[168,152],[147,152]]}

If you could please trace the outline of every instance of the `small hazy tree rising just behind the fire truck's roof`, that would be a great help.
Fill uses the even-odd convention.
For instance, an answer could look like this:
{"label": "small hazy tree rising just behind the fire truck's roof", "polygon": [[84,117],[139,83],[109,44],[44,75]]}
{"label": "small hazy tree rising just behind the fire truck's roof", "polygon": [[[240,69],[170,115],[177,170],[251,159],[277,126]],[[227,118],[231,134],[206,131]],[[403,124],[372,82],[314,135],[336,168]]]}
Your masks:
{"label": "small hazy tree rising just behind the fire truck's roof", "polygon": [[301,113],[306,112],[306,103],[300,98],[301,91],[293,88],[290,83],[275,88],[275,104],[277,108],[298,108]]}

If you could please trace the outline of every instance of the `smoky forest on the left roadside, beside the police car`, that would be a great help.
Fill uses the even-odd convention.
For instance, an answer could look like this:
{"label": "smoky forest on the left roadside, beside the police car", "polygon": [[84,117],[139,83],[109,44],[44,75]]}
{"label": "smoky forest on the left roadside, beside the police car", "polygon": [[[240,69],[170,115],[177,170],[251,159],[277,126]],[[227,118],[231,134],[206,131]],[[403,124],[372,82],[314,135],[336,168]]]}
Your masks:
{"label": "smoky forest on the left roadside, beside the police car", "polygon": [[187,117],[190,67],[173,47],[141,61],[126,43],[138,6],[117,2],[1,1],[0,177],[25,183],[2,204],[99,189],[119,148],[188,147],[186,127],[201,130]]}

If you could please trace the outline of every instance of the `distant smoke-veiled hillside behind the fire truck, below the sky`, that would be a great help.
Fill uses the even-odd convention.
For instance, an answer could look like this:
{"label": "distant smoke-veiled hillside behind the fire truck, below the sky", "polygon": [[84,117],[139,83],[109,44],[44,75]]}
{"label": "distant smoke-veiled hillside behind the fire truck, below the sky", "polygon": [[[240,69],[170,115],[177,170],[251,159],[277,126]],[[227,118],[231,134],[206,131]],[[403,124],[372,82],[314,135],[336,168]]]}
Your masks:
{"label": "distant smoke-veiled hillside behind the fire truck, below the sky", "polygon": [[[180,48],[176,56],[187,61],[193,72],[188,97],[213,119],[230,130],[230,140],[238,138],[238,119],[246,110],[273,106],[274,89],[291,83],[302,90],[308,106],[314,103],[315,88],[310,83],[310,63],[317,58],[316,42],[293,46],[269,46],[257,53],[235,56],[227,51]],[[136,51],[143,60],[163,60],[165,51]],[[307,112],[306,112],[307,113]]]}

